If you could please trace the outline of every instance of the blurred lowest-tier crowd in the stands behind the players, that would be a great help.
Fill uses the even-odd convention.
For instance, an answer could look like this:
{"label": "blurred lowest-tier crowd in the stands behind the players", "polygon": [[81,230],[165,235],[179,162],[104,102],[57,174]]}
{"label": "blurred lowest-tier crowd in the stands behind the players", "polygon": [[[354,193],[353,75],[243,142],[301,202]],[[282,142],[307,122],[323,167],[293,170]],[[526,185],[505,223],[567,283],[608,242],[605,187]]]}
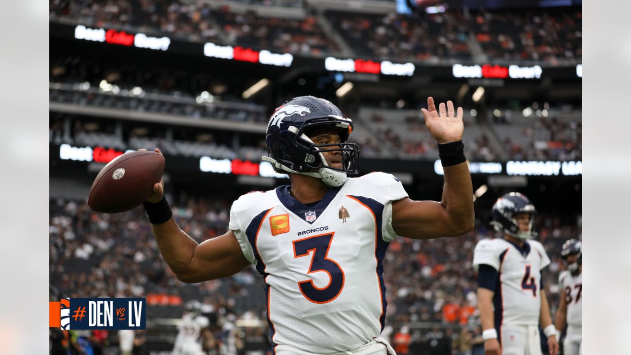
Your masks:
{"label": "blurred lowest-tier crowd in the stands behind the players", "polygon": [[[197,199],[182,194],[173,203],[173,212],[182,230],[201,242],[227,231],[230,202],[232,196],[227,195]],[[488,217],[488,212],[479,214]],[[538,239],[552,260],[545,285],[553,308],[558,304],[560,246],[566,239],[581,239],[581,223],[580,216],[564,220],[540,215],[537,219]],[[430,328],[425,332],[423,328],[411,327],[413,344],[430,344],[428,337],[435,337],[438,332],[445,332],[445,337],[449,334],[454,344],[469,335],[471,342],[476,339],[479,321],[471,267],[473,247],[478,240],[495,236],[495,231],[481,220],[476,226],[459,238],[398,238],[391,242],[384,260],[389,301],[387,334],[396,337],[401,325],[423,322]],[[264,289],[254,267],[226,279],[200,284],[180,282],[163,262],[141,207],[124,214],[99,214],[84,202],[52,199],[49,238],[50,284],[59,295],[146,296],[152,318],[179,318],[184,303],[198,299],[206,304],[206,312],[213,315],[215,323],[245,319],[266,327],[261,297]],[[460,334],[461,328],[466,332]],[[221,327],[217,329],[219,332]],[[242,333],[245,339],[260,344],[267,341],[265,329],[246,330]],[[151,337],[150,331],[147,335]]]}

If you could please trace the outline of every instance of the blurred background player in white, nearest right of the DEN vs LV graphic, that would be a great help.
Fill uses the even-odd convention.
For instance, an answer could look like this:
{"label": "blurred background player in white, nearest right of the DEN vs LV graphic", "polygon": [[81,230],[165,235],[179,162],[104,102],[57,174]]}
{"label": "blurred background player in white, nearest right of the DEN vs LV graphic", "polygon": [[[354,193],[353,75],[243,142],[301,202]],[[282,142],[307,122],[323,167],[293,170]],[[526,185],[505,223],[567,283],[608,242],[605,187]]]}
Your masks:
{"label": "blurred background player in white, nearest right of the DEN vs LV graphic", "polygon": [[208,327],[209,320],[201,315],[201,303],[191,300],[186,303],[186,313],[182,316],[179,332],[175,337],[174,355],[203,355],[201,349],[201,330]]}

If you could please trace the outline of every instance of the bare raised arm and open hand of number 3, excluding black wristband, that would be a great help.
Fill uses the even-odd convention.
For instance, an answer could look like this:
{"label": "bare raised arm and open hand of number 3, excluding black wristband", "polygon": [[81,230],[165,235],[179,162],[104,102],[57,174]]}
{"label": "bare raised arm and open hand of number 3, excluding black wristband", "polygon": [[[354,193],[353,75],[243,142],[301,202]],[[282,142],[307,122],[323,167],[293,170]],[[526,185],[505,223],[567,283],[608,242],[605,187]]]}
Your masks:
{"label": "bare raised arm and open hand of number 3, excluding black wristband", "polygon": [[[454,104],[447,101],[447,105],[439,105],[438,112],[431,97],[427,99],[427,106],[429,110],[422,109],[425,124],[437,143],[461,141],[464,131],[462,107],[458,107],[456,113]],[[461,147],[461,143],[454,143],[454,147],[457,144]],[[473,229],[473,185],[469,166],[463,158],[457,164],[444,166],[444,174],[441,202],[404,198],[392,203],[392,227],[399,236],[414,239],[456,237]]]}

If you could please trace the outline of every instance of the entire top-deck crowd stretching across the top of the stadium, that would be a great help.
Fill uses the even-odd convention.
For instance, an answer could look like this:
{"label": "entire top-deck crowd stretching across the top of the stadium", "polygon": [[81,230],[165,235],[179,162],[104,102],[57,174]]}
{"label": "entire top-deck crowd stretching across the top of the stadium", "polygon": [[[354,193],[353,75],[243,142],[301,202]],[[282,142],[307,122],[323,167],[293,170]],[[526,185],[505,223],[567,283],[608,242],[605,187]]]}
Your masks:
{"label": "entire top-deck crowd stretching across the top of the stadium", "polygon": [[[299,0],[240,0],[242,3],[305,7]],[[302,19],[240,13],[230,6],[178,0],[54,0],[50,20],[160,33],[187,40],[213,40],[303,56],[339,54],[336,40],[306,9]],[[398,61],[471,59],[477,40],[490,59],[558,64],[582,57],[582,11],[486,11],[400,15],[326,11],[355,56]],[[282,15],[279,15],[282,16]],[[473,37],[473,38],[469,38]]]}

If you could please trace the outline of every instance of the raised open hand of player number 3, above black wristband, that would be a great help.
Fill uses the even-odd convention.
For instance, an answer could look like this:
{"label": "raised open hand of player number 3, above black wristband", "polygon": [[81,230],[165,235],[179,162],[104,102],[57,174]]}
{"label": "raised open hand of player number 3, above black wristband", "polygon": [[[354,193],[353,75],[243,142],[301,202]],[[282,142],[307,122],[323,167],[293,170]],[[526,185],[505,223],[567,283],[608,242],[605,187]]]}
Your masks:
{"label": "raised open hand of player number 3, above black wristband", "polygon": [[425,125],[438,143],[449,143],[463,139],[463,108],[454,111],[454,103],[440,103],[436,111],[432,97],[427,98],[427,109],[421,109],[425,116]]}

